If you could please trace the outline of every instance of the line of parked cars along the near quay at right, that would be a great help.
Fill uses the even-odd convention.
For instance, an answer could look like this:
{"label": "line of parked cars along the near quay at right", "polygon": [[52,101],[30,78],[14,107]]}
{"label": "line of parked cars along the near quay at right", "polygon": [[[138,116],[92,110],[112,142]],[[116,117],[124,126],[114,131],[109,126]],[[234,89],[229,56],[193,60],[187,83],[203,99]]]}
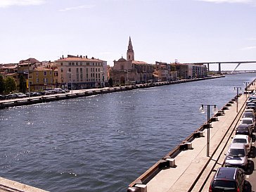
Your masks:
{"label": "line of parked cars along the near quay at right", "polygon": [[248,170],[248,154],[255,140],[256,95],[246,102],[241,124],[236,127],[235,136],[226,153],[224,167],[219,167],[213,177],[209,191],[241,192],[245,188],[245,172]]}

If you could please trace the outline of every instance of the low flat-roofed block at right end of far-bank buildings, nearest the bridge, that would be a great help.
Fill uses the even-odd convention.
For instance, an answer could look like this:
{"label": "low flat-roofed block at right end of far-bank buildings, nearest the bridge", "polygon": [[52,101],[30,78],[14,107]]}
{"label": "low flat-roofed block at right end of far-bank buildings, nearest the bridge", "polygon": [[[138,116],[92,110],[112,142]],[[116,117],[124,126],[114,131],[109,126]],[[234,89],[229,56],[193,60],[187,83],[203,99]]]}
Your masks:
{"label": "low flat-roofed block at right end of far-bank buildings, nearest the bridge", "polygon": [[194,79],[207,77],[206,65],[171,63],[171,67],[177,71],[179,79]]}

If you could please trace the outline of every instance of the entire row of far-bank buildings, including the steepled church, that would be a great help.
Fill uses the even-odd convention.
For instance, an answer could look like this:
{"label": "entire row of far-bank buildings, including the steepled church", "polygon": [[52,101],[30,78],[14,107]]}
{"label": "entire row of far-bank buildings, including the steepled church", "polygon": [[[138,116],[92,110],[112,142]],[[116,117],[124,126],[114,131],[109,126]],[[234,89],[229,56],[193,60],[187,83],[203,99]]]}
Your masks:
{"label": "entire row of far-bank buildings, including the steepled church", "polygon": [[19,63],[0,65],[0,75],[13,77],[19,84],[24,76],[30,91],[41,91],[56,87],[65,89],[89,89],[120,84],[163,82],[177,79],[193,79],[207,76],[205,65],[162,63],[149,64],[135,60],[131,37],[127,58],[114,60],[110,67],[105,60],[88,56],[62,56],[58,60],[39,61],[35,58]]}

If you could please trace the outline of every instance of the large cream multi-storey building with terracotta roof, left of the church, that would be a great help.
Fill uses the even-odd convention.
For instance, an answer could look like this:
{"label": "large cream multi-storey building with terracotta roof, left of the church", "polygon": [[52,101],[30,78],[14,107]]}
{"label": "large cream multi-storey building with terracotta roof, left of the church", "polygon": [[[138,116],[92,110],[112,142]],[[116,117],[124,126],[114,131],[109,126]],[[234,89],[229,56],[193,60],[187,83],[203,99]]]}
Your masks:
{"label": "large cream multi-storey building with terracotta roof, left of the church", "polygon": [[56,61],[58,84],[61,88],[87,89],[104,87],[108,78],[107,62],[94,57],[71,56]]}

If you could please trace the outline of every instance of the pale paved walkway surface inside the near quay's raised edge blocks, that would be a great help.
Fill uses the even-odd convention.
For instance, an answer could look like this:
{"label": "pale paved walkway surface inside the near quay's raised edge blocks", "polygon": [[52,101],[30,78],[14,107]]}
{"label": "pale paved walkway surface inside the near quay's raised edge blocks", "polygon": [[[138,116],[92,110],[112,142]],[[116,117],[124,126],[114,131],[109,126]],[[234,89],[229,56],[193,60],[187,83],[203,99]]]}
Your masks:
{"label": "pale paved walkway surface inside the near quay's raised edge blocks", "polygon": [[[238,99],[238,112],[242,113],[244,103],[246,101],[245,95]],[[210,128],[210,158],[206,156],[206,139],[207,132],[205,131],[204,137],[194,139],[192,141],[193,149],[181,151],[175,158],[177,167],[162,169],[151,181],[146,184],[148,192],[184,192],[200,191],[201,186],[205,181],[205,177],[212,171],[219,154],[225,151],[225,143],[231,141],[229,136],[239,121],[240,115],[236,113],[236,103],[233,103],[229,110],[225,110],[224,116],[219,116],[219,121],[212,122]],[[238,116],[238,117],[237,117]],[[235,120],[235,121],[234,121]],[[226,134],[228,133],[228,134]],[[224,139],[224,141],[222,141]],[[219,146],[220,144],[220,146]],[[225,151],[226,152],[226,151]],[[223,162],[223,160],[219,160]],[[208,164],[209,162],[209,164]],[[206,166],[207,165],[207,166]],[[221,166],[221,165],[220,165]],[[204,170],[204,171],[203,171]],[[200,177],[201,172],[202,176]],[[199,177],[199,178],[198,178]],[[209,185],[205,185],[209,186]],[[208,191],[208,188],[205,189]]]}

